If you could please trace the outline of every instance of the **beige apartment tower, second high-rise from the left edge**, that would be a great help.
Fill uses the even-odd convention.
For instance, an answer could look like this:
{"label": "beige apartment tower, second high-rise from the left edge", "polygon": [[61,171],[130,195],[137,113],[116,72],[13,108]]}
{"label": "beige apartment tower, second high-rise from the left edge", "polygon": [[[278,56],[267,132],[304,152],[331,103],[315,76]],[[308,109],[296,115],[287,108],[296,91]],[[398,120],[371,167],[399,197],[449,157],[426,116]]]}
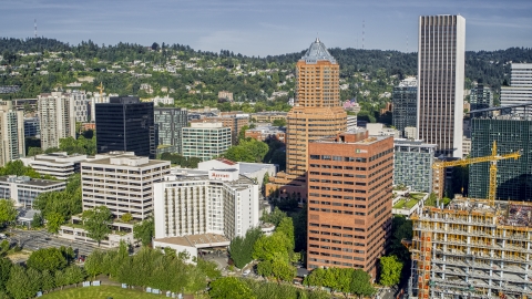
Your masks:
{"label": "beige apartment tower, second high-rise from the left edge", "polygon": [[39,120],[41,122],[41,148],[59,147],[59,140],[75,138],[74,100],[61,92],[41,93]]}

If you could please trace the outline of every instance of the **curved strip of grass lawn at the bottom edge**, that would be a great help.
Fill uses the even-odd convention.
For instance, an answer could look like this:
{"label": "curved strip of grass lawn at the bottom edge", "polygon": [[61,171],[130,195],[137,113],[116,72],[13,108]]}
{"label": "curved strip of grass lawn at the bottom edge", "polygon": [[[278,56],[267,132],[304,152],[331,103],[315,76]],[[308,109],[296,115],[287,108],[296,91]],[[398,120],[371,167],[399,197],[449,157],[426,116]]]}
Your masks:
{"label": "curved strip of grass lawn at the bottom edge", "polygon": [[[100,287],[78,287],[73,289],[57,290],[42,296],[43,299],[55,298],[94,298],[94,299],[155,299],[161,295],[143,292],[136,289],[122,289],[121,287],[100,286]],[[166,296],[164,296],[166,298]]]}

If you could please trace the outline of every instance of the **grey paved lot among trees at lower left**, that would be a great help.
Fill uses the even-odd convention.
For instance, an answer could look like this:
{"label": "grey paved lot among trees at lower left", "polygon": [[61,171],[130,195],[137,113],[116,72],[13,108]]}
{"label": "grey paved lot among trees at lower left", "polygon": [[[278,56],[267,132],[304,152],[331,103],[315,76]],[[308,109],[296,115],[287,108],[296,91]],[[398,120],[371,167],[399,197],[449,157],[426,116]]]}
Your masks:
{"label": "grey paved lot among trees at lower left", "polygon": [[[4,231],[9,233],[9,231]],[[88,256],[98,246],[93,246],[90,244],[81,243],[81,241],[71,241],[68,239],[62,239],[53,236],[52,234],[44,231],[44,230],[21,230],[21,229],[11,229],[8,239],[11,243],[18,244],[22,249],[34,251],[41,248],[49,248],[49,247],[72,247],[74,252],[78,256]],[[105,249],[105,248],[100,248]]]}

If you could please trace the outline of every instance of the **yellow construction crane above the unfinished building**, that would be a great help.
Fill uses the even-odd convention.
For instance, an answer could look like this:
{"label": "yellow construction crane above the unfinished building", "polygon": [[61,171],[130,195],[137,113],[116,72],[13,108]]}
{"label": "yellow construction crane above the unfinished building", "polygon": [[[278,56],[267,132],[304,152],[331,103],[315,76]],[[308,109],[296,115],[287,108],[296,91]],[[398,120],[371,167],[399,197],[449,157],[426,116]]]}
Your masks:
{"label": "yellow construction crane above the unfinished building", "polygon": [[498,155],[497,154],[497,142],[493,141],[493,147],[491,148],[490,156],[474,157],[474,158],[464,158],[459,161],[449,161],[449,162],[436,162],[432,164],[432,168],[441,169],[452,166],[466,166],[470,164],[481,163],[481,162],[491,162],[490,166],[490,190],[488,193],[488,200],[491,206],[495,204],[495,194],[497,194],[497,162],[500,159],[513,158],[518,159],[521,156],[520,152]]}

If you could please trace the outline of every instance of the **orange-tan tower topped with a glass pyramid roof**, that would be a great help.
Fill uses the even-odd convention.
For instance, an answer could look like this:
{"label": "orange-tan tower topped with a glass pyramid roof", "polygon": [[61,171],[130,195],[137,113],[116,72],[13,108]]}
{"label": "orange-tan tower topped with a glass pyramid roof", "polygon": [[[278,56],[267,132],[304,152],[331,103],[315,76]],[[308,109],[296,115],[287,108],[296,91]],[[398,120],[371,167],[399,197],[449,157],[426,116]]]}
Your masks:
{"label": "orange-tan tower topped with a glass pyramid roof", "polygon": [[340,65],[316,39],[296,64],[296,105],[287,116],[286,172],[307,171],[308,143],[347,130],[340,106]]}

